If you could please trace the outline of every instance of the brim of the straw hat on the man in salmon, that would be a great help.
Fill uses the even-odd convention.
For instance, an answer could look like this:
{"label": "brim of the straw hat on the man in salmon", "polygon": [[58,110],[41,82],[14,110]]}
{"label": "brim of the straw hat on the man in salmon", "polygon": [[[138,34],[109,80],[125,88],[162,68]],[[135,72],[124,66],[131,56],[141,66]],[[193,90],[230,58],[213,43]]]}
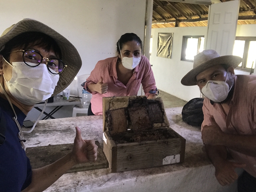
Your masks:
{"label": "brim of the straw hat on the man in salmon", "polygon": [[201,65],[198,65],[191,71],[189,71],[182,79],[182,85],[197,85],[196,76],[203,72],[204,70],[213,67],[214,65],[226,64],[230,67],[236,68],[242,62],[242,58],[234,55],[224,55],[220,57],[216,57],[214,59],[210,59]]}

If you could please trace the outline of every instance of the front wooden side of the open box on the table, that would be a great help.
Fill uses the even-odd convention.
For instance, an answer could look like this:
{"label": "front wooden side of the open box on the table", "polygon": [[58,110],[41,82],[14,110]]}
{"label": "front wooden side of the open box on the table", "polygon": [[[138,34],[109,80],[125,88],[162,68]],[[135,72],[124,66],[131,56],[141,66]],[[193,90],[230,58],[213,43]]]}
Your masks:
{"label": "front wooden side of the open box on the table", "polygon": [[166,156],[181,154],[181,139],[117,145],[116,172],[162,166]]}

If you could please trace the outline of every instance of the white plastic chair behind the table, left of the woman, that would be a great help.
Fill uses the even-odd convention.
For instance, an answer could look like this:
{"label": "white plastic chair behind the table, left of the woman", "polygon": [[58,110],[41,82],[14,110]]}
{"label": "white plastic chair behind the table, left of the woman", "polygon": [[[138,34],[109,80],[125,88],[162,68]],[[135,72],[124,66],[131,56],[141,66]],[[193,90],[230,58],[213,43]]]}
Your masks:
{"label": "white plastic chair behind the table, left of the woman", "polygon": [[[82,98],[82,91],[83,91],[83,87],[81,86],[82,83],[84,83],[86,81],[86,79],[90,76],[90,74],[85,74],[85,75],[80,75],[77,77],[77,91],[78,91],[78,97]],[[81,103],[82,103],[82,99]],[[77,114],[83,114],[83,115],[87,115],[88,112],[88,107],[87,108],[82,108],[81,107],[73,107],[73,113],[72,113],[72,117],[76,117]]]}

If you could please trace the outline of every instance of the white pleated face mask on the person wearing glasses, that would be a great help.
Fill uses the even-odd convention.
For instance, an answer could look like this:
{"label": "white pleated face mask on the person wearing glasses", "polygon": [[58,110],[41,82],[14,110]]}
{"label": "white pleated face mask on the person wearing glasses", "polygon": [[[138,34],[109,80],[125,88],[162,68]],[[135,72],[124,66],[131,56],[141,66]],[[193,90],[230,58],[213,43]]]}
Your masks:
{"label": "white pleated face mask on the person wearing glasses", "polygon": [[51,97],[60,76],[50,73],[45,64],[30,67],[24,62],[13,62],[11,66],[12,78],[4,80],[15,99],[25,105],[34,105]]}

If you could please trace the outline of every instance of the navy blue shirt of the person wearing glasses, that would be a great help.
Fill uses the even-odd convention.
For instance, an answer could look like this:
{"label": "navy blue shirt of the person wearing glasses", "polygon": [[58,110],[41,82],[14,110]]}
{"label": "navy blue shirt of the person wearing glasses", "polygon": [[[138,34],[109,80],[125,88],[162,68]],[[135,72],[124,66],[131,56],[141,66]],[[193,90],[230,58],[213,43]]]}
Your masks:
{"label": "navy blue shirt of the person wearing glasses", "polygon": [[[22,126],[26,115],[13,105],[18,122]],[[14,112],[7,100],[0,97],[0,115],[5,122],[5,142],[0,146],[0,192],[20,192],[32,180],[30,161],[19,142],[19,129],[12,119]]]}

